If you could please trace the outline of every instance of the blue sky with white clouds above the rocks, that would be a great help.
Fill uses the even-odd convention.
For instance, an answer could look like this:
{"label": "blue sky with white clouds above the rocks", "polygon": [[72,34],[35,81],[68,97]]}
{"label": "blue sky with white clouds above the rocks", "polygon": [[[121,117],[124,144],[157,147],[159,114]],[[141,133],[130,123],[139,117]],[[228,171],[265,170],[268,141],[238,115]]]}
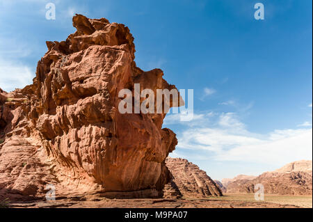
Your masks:
{"label": "blue sky with white clouds above the rocks", "polygon": [[[56,20],[45,19],[48,2]],[[195,118],[164,124],[179,139],[172,157],[214,179],[312,159],[312,1],[0,0],[1,88],[31,84],[45,41],[73,33],[74,13],[126,24],[138,67],[194,90]]]}

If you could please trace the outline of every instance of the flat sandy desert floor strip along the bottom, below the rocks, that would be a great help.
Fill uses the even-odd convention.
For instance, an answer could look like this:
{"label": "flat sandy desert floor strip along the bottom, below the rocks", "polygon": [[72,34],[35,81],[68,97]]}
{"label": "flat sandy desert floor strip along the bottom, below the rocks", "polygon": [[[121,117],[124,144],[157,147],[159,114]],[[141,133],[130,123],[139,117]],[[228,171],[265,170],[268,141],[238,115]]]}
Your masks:
{"label": "flat sandy desert floor strip along the bottom, below the rocks", "polygon": [[51,201],[10,203],[8,207],[74,208],[289,208],[312,207],[312,196],[266,195],[256,201],[252,194],[227,194],[204,199],[108,199],[99,196],[59,197]]}

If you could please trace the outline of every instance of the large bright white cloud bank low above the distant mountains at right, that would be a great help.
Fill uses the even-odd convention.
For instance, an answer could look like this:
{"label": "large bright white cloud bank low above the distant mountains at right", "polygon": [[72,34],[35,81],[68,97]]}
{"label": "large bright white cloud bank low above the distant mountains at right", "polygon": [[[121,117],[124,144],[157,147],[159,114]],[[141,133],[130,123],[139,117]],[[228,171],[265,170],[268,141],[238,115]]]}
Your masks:
{"label": "large bright white cloud bank low above the distant mountains at right", "polygon": [[216,122],[204,123],[178,134],[179,149],[207,150],[216,161],[286,164],[312,159],[312,129],[282,129],[254,134],[235,113],[221,113]]}

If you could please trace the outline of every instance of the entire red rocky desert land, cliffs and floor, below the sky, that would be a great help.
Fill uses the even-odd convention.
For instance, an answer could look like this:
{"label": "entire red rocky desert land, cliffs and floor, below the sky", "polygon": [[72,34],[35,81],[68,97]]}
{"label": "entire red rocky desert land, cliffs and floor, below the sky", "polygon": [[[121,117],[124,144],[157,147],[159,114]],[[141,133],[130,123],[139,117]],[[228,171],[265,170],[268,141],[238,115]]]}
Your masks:
{"label": "entire red rocky desert land, cliffs and floor, below the sky", "polygon": [[[178,92],[178,100],[161,97],[160,113],[155,95],[177,88],[162,70],[136,66],[124,24],[72,22],[77,31],[66,40],[46,42],[33,84],[0,88],[0,207],[312,207],[312,161],[214,182],[168,157],[177,138],[163,119],[184,101]],[[133,111],[137,87],[152,91],[153,109],[122,113],[120,91],[131,93]],[[253,198],[255,184],[264,201]]]}

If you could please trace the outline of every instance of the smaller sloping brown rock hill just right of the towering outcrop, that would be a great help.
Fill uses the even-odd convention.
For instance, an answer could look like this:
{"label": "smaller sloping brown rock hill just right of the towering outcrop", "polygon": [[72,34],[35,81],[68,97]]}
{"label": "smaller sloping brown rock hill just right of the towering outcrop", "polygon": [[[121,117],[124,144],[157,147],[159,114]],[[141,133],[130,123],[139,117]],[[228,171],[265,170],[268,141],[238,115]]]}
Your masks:
{"label": "smaller sloping brown rock hill just right of the towering outcrop", "polygon": [[172,179],[164,188],[165,198],[208,198],[209,196],[222,196],[218,185],[186,159],[166,159],[166,166],[172,174]]}

